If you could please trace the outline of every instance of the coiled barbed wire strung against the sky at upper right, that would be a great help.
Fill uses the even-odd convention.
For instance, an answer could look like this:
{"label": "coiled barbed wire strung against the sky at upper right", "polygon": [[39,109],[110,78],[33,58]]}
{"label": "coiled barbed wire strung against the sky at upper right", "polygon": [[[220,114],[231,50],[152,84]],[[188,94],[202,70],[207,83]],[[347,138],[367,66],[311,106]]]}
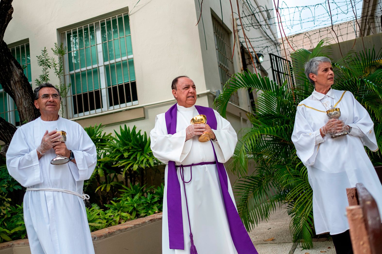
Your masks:
{"label": "coiled barbed wire strung against the sky at upper right", "polygon": [[[332,40],[332,43],[337,43],[338,40],[345,41],[358,38],[358,26],[362,27],[362,25],[364,25],[361,24],[361,14],[363,13],[362,3],[362,0],[331,0],[322,1],[322,3],[314,5],[290,7],[283,1],[279,6],[271,7],[254,6],[248,0],[241,0],[240,18],[242,26],[240,26],[239,23],[238,13],[235,13],[236,22],[238,23],[238,39],[240,43],[245,42],[245,38],[241,36],[241,30],[244,30],[246,34],[250,34],[249,31],[251,29],[260,30],[263,34],[262,36],[247,37],[248,41],[253,44],[254,50],[262,54],[275,52],[280,54],[282,51],[280,44],[282,42],[290,44],[285,45],[286,51],[290,53],[293,51],[292,47],[301,48],[302,46],[308,46],[313,48],[323,38],[329,38],[329,40]],[[277,17],[275,17],[273,13],[273,8],[277,9],[280,13],[279,17],[282,25],[280,30],[282,31],[277,29],[279,22],[277,22]],[[376,9],[376,13],[367,16],[367,19],[373,19],[376,23],[374,26],[368,24],[367,27],[371,30],[378,29],[382,25],[380,20],[382,14],[381,3],[370,5],[369,8]],[[309,12],[311,15],[304,17],[304,12]],[[330,15],[330,12],[332,15]],[[356,19],[359,25],[356,24]],[[277,33],[278,37],[280,37],[281,32],[283,32],[287,38],[285,38],[284,35],[283,38],[275,38],[274,35],[269,33],[271,30],[279,30]],[[291,31],[293,31],[293,34],[290,34]],[[336,37],[338,37],[338,39],[336,39]],[[254,53],[253,50],[249,50],[249,52]],[[267,60],[265,60],[265,62],[267,62]],[[269,69],[270,68],[267,70]]]}

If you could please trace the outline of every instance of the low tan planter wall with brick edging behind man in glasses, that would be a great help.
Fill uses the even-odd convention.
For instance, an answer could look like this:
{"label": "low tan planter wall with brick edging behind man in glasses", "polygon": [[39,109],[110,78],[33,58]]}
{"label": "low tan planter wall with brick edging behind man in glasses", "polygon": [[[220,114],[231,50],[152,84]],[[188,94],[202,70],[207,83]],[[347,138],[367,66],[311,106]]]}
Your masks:
{"label": "low tan planter wall with brick edging behind man in glasses", "polygon": [[[162,253],[162,212],[92,232],[95,254]],[[0,254],[31,254],[28,239],[0,243]]]}

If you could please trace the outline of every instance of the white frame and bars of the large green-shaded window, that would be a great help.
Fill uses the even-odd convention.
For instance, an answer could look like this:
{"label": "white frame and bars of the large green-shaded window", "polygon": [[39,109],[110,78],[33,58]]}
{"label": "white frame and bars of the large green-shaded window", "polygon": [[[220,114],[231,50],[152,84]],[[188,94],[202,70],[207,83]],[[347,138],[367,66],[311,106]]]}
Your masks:
{"label": "white frame and bars of the large green-shaded window", "polygon": [[[120,27],[120,25],[118,24],[118,18],[122,17],[122,24],[123,24],[123,27]],[[120,14],[114,14],[112,16],[108,16],[107,18],[103,18],[103,19],[98,19],[97,21],[94,21],[94,22],[88,22],[87,24],[83,25],[83,26],[77,26],[77,27],[73,27],[72,29],[65,29],[65,31],[61,32],[61,39],[62,39],[62,42],[63,42],[63,46],[68,46],[68,34],[69,36],[71,36],[70,34],[73,34],[73,32],[75,31],[77,33],[77,38],[78,35],[79,35],[79,31],[81,30],[84,30],[87,28],[87,31],[89,32],[89,46],[85,46],[85,36],[83,36],[83,41],[84,41],[84,45],[82,48],[80,48],[80,45],[79,45],[79,40],[77,40],[77,49],[72,49],[72,51],[68,51],[65,56],[64,56],[64,59],[63,59],[63,64],[64,64],[64,81],[66,84],[69,84],[71,83],[71,75],[74,75],[74,83],[72,83],[72,86],[76,86],[76,75],[79,74],[80,75],[80,80],[81,80],[81,90],[82,90],[82,87],[83,87],[83,81],[82,81],[82,75],[83,73],[85,73],[86,75],[86,89],[87,91],[80,91],[79,93],[76,91],[76,94],[73,94],[73,91],[72,89],[68,89],[68,94],[66,95],[66,112],[68,114],[68,118],[69,119],[73,119],[73,118],[78,118],[78,117],[84,117],[84,116],[91,116],[91,115],[97,115],[98,113],[103,113],[103,112],[108,112],[108,111],[111,111],[111,110],[118,110],[118,109],[124,109],[124,108],[127,108],[127,107],[130,107],[132,105],[138,105],[138,93],[134,94],[135,97],[136,97],[136,100],[134,101],[133,100],[133,92],[132,92],[132,87],[133,85],[136,86],[136,77],[135,77],[135,67],[134,67],[134,61],[132,61],[132,66],[133,66],[133,75],[134,75],[134,80],[131,80],[131,68],[129,66],[129,61],[130,60],[133,60],[134,59],[134,56],[133,54],[128,54],[128,41],[127,41],[127,38],[130,37],[130,40],[131,40],[131,32],[129,34],[126,33],[126,27],[125,27],[125,19],[129,19],[129,13],[128,12],[124,12],[124,13],[120,13]],[[116,50],[115,50],[115,47],[114,47],[114,42],[115,42],[115,38],[114,38],[114,34],[113,34],[113,20],[114,19],[117,19],[117,34],[118,34],[118,45],[119,45],[119,50],[120,50],[120,58],[115,58],[115,54],[116,54]],[[102,22],[105,24],[105,36],[106,36],[106,42],[103,41],[102,39]],[[110,22],[110,26],[111,26],[111,37],[112,38],[108,38],[108,27],[107,27],[107,22]],[[129,24],[129,30],[130,30],[130,21],[128,20],[128,24]],[[92,45],[91,43],[91,39],[90,39],[90,28],[94,26],[94,35],[95,35],[95,45]],[[120,30],[123,29],[123,36],[120,36]],[[83,32],[82,32],[83,33]],[[126,50],[126,56],[123,56],[122,57],[122,51],[121,51],[121,38],[125,38],[125,50]],[[73,37],[71,36],[71,43],[73,45]],[[108,61],[105,61],[104,59],[104,54],[105,54],[105,49],[104,49],[104,43],[106,43],[107,45],[107,54],[108,54]],[[109,43],[113,44],[113,55],[109,54],[108,52],[108,49],[109,49]],[[95,46],[96,48],[96,64],[93,64],[93,59],[92,59],[92,51],[91,51],[91,48]],[[89,47],[90,48],[90,61],[91,61],[91,65],[88,65],[88,66],[85,66],[85,67],[82,67],[81,68],[81,56],[79,55],[78,56],[78,59],[79,59],[79,69],[75,69],[75,65],[74,65],[74,61],[73,61],[73,58],[72,58],[72,62],[69,63],[69,57],[68,55],[71,53],[71,52],[74,52],[74,51],[80,51],[82,49],[84,49],[84,55],[85,55],[85,61],[87,61],[86,59],[86,48]],[[131,51],[133,51],[133,46],[131,45]],[[112,58],[113,59],[110,59]],[[126,65],[127,65],[127,73],[128,73],[128,81],[125,81],[125,77],[124,77],[124,73],[123,73],[123,69],[125,67],[123,67],[123,62],[126,61]],[[70,70],[70,67],[69,67],[69,64],[73,64],[73,70]],[[121,65],[121,74],[122,74],[122,82],[118,83],[118,78],[117,78],[117,75],[118,75],[118,71],[117,71],[117,65],[120,64]],[[112,65],[114,66],[114,72],[112,72]],[[109,71],[109,81],[110,81],[110,86],[108,86],[108,78],[107,78],[107,68],[108,68],[108,71]],[[91,79],[92,79],[92,86],[93,88],[89,90],[89,83],[88,83],[88,71],[91,70]],[[97,70],[97,77],[94,77],[94,70]],[[115,73],[116,75],[116,82],[117,84],[113,85],[112,84],[112,75]],[[95,79],[98,79],[98,85],[99,85],[99,88],[95,89],[94,88],[94,80]],[[131,98],[131,101],[127,102],[127,98],[128,96],[126,95],[126,90],[125,90],[125,86],[126,84],[129,85],[129,90],[130,90],[130,98]],[[124,96],[124,101],[123,103],[120,102],[120,93],[119,93],[119,89],[120,89],[120,86],[123,86],[123,92],[125,93],[125,96]],[[113,88],[117,88],[117,93],[118,93],[118,102],[115,102],[114,101],[114,96],[113,96]],[[111,89],[111,91],[109,91],[109,89]],[[96,108],[97,107],[97,103],[95,101],[95,92],[96,91],[99,91],[99,96],[100,96],[100,108]],[[89,96],[89,93],[94,93],[93,95],[93,99],[94,99],[94,104],[92,104],[92,106],[94,106],[95,109],[93,110],[88,110],[88,111],[83,111],[83,112],[79,112],[79,103],[78,102],[74,102],[74,96],[79,96],[82,94],[82,109],[85,110],[84,108],[84,97],[83,96],[84,94],[87,94],[87,103],[88,103],[88,108],[90,109],[90,96]],[[110,105],[110,101],[112,102]],[[76,111],[77,113],[74,113],[74,108],[77,107]]]}

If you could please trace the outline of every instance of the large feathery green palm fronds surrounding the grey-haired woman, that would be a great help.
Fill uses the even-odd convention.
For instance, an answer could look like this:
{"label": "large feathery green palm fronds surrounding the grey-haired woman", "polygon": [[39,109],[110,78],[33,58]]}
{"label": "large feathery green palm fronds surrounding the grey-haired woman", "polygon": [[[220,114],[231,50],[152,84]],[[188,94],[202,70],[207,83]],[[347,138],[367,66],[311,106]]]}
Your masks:
{"label": "large feathery green palm fronds surrounding the grey-haired woman", "polygon": [[[321,41],[312,52],[297,50],[292,54],[293,63],[328,56],[330,50],[323,46],[324,43]],[[361,53],[351,51],[332,64],[336,75],[333,88],[351,91],[369,111],[379,147],[382,145],[381,56],[374,49]],[[293,241],[301,241],[303,248],[311,248],[314,235],[312,189],[306,167],[296,155],[291,134],[296,107],[312,93],[313,86],[301,67],[295,65],[293,72],[299,84],[292,87],[288,87],[286,81],[277,84],[268,77],[249,72],[236,73],[216,98],[215,106],[225,117],[230,96],[238,89],[261,91],[253,114],[248,114],[252,127],[241,130],[233,161],[228,166],[240,177],[234,185],[238,212],[249,231],[261,220],[269,219],[277,207],[287,204]],[[381,155],[380,150],[372,155],[374,165],[381,163]],[[255,173],[251,176],[246,175],[249,160],[256,163]]]}

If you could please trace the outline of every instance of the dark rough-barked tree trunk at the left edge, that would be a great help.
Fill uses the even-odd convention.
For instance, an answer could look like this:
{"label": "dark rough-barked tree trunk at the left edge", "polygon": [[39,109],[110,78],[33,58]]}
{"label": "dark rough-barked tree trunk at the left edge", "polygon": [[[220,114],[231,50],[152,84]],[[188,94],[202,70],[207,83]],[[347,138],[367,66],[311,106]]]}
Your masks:
{"label": "dark rough-barked tree trunk at the left edge", "polygon": [[[0,83],[5,91],[15,101],[20,122],[30,122],[39,117],[40,112],[34,106],[33,90],[28,78],[24,75],[23,67],[11,54],[8,46],[4,42],[5,29],[12,19],[12,0],[1,0],[0,2]],[[6,152],[9,145],[9,136],[15,133],[15,126],[6,125],[0,120],[2,131],[0,140],[5,142],[2,153]]]}

